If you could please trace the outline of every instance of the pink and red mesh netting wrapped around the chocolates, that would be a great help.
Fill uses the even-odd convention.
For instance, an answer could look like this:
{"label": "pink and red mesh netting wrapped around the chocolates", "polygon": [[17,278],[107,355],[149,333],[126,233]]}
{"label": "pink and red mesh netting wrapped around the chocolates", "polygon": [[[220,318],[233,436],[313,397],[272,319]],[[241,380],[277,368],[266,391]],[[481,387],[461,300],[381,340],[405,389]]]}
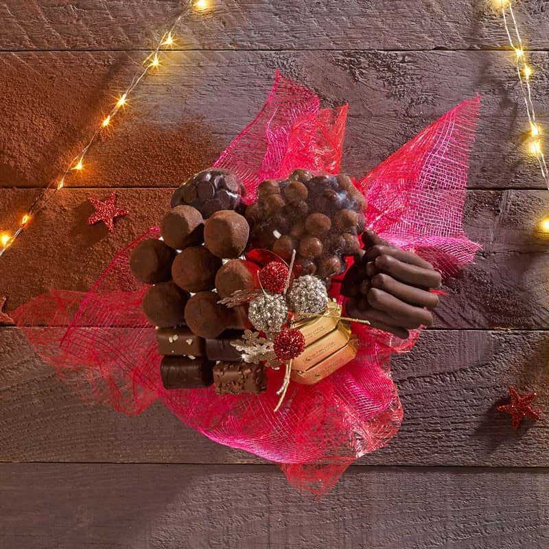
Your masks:
{"label": "pink and red mesh netting wrapped around the chocolates", "polygon": [[[425,128],[365,176],[369,227],[386,240],[434,261],[445,275],[472,261],[478,244],[461,229],[467,156],[479,98],[463,102]],[[256,119],[216,163],[239,174],[253,199],[264,178],[296,167],[339,170],[347,107],[319,109],[318,97],[277,73]],[[215,395],[213,388],[165,390],[154,327],[141,312],[145,285],[133,279],[131,250],[122,250],[86,293],[50,292],[13,317],[40,355],[85,398],[135,415],[156,399],[210,439],[281,464],[298,489],[327,493],[356,458],[382,447],[397,432],[402,408],[390,377],[391,353],[402,341],[354,325],[360,349],[353,362],[322,382],[290,384],[282,408],[281,371],[269,372],[264,395]],[[332,286],[336,298],[338,284]]]}

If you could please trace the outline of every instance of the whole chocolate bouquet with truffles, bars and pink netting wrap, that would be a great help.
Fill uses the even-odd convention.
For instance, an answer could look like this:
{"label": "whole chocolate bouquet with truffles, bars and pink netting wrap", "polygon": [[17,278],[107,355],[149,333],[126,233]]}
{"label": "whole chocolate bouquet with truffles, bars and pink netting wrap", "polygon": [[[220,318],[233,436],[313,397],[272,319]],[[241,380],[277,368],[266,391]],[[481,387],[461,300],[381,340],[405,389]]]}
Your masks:
{"label": "whole chocolate bouquet with truffles, bars and pink netting wrap", "polygon": [[390,355],[479,248],[461,228],[477,110],[463,102],[357,181],[339,173],[347,107],[320,109],[277,73],[160,228],[87,294],[50,292],[13,316],[80,395],[126,414],[161,399],[326,493],[397,432]]}

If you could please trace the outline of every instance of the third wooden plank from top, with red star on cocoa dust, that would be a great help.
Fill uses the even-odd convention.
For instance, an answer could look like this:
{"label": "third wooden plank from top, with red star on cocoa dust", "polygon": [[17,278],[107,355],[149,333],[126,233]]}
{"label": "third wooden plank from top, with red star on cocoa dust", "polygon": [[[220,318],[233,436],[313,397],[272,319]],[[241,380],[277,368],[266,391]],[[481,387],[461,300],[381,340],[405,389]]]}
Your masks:
{"label": "third wooden plank from top, with red star on cocoa dust", "polygon": [[[117,189],[130,215],[114,233],[87,224],[89,196],[104,200],[110,189],[64,189],[36,216],[0,262],[0,294],[6,310],[49,290],[87,291],[117,251],[159,224],[172,189]],[[0,189],[0,219],[14,225],[36,190]],[[465,231],[484,250],[436,309],[439,328],[549,327],[549,237],[539,231],[547,214],[546,191],[469,191]],[[526,268],[527,267],[527,268]]]}

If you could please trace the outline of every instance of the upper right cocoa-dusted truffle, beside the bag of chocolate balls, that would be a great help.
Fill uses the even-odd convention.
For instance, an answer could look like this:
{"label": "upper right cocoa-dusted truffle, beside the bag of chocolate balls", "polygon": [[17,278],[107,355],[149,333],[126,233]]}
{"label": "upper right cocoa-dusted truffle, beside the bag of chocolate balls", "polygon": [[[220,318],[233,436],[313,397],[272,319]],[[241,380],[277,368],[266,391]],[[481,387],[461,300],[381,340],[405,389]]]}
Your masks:
{"label": "upper right cocoa-dusted truffle, beside the bag of chocolate balls", "polygon": [[250,226],[239,213],[232,210],[215,212],[204,226],[206,247],[223,259],[238,257],[246,249]]}

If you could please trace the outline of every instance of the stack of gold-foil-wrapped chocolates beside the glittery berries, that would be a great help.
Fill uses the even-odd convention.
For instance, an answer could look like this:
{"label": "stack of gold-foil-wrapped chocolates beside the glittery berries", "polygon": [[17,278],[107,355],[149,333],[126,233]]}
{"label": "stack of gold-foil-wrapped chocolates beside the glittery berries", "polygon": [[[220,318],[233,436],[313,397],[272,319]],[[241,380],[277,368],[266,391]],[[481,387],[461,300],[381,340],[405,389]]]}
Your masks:
{"label": "stack of gold-foil-wrapped chocolates beside the glittery berries", "polygon": [[296,383],[318,383],[356,356],[351,325],[336,316],[314,318],[296,328],[305,336],[305,351],[292,360],[291,379]]}

